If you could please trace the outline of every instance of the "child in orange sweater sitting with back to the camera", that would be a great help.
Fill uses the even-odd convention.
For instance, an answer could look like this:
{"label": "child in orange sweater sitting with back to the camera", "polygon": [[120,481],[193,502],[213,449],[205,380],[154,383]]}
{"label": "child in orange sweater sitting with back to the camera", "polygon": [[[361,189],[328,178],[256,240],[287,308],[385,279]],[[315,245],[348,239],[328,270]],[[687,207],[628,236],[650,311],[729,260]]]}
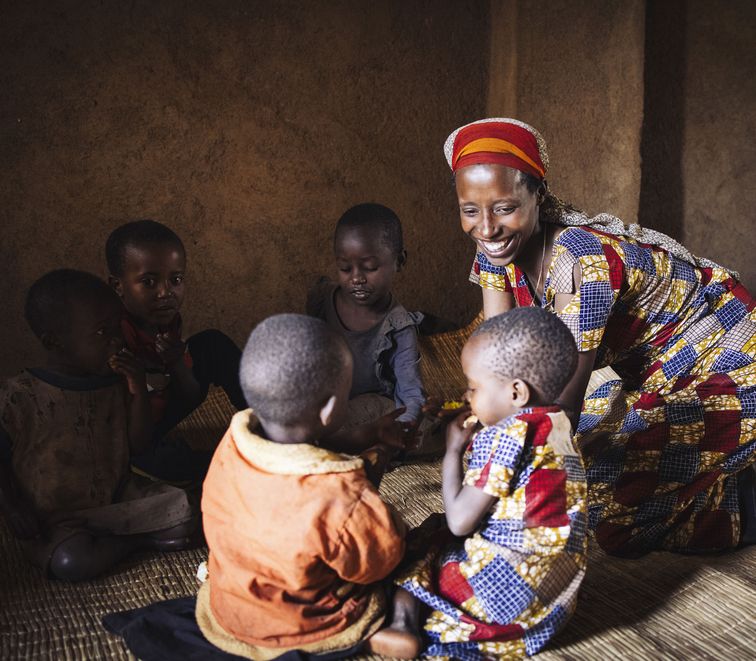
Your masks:
{"label": "child in orange sweater sitting with back to the camera", "polygon": [[349,650],[381,626],[378,581],[405,533],[363,460],[329,437],[346,415],[349,350],[318,319],[276,315],[250,335],[240,378],[252,408],[232,419],[203,486],[197,624],[247,658]]}

